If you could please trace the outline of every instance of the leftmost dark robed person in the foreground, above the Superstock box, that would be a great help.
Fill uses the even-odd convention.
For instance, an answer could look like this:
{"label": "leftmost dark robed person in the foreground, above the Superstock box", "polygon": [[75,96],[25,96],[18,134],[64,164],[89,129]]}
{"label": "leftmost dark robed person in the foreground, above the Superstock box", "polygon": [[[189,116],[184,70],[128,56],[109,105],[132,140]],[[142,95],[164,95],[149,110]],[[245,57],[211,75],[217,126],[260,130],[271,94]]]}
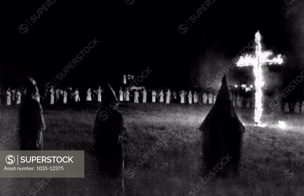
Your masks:
{"label": "leftmost dark robed person in the foreground, above the Superstock box", "polygon": [[31,77],[26,81],[26,90],[19,109],[21,150],[43,150],[42,132],[45,130],[45,122],[41,104],[35,99],[38,88]]}

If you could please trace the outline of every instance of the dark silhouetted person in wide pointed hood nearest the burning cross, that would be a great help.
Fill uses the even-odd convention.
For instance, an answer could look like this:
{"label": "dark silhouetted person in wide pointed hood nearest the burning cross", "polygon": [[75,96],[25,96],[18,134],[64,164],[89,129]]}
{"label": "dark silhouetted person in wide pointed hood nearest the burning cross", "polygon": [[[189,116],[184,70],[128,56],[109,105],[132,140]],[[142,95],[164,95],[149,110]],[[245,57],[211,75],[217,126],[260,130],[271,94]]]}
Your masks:
{"label": "dark silhouetted person in wide pointed hood nearest the burning cross", "polygon": [[245,127],[237,117],[231,103],[226,76],[223,77],[215,104],[199,130],[203,133],[202,150],[205,172],[212,171],[218,163],[222,163],[223,168],[219,168],[222,176],[226,176],[230,169],[237,174]]}

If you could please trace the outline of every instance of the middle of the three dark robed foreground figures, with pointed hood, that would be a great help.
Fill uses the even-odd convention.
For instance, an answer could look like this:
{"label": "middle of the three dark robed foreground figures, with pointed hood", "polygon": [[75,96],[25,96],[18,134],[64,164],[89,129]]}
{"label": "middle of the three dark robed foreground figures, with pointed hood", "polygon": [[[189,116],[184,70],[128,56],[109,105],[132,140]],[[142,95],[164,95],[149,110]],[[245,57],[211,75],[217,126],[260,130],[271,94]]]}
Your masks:
{"label": "middle of the three dark robed foreground figures, with pointed hood", "polygon": [[114,195],[115,191],[123,192],[124,190],[123,140],[126,136],[126,124],[123,115],[116,110],[119,101],[108,83],[105,85],[104,94],[105,102],[95,118],[93,148],[105,178],[113,181],[110,183],[111,190],[105,190],[105,192]]}

